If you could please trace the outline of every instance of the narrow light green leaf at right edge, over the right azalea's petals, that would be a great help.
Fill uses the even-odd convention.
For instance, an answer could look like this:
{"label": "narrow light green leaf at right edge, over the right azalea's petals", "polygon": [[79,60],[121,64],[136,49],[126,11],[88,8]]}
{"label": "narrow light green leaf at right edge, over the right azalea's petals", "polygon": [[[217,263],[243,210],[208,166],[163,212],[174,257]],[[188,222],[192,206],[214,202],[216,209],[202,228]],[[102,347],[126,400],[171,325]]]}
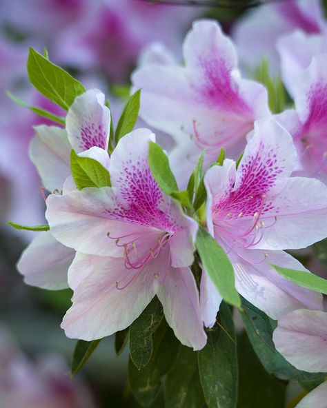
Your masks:
{"label": "narrow light green leaf at right edge, over the right azalea's petals", "polygon": [[320,278],[315,274],[309,274],[304,271],[296,271],[295,269],[287,269],[277,265],[271,265],[275,271],[288,281],[295,283],[301,287],[306,287],[315,292],[327,295],[327,281],[324,278]]}

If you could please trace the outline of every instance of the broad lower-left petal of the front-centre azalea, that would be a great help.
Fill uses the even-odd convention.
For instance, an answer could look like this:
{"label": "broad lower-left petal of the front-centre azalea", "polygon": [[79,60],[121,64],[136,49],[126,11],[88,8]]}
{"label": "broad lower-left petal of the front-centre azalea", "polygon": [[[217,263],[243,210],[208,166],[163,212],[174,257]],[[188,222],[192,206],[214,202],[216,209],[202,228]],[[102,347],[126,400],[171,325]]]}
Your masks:
{"label": "broad lower-left petal of the front-centre azalea", "polygon": [[79,256],[69,273],[76,287],[73,305],[61,323],[69,338],[90,341],[126,329],[155,296],[157,278],[150,267],[141,273],[130,271],[123,258]]}

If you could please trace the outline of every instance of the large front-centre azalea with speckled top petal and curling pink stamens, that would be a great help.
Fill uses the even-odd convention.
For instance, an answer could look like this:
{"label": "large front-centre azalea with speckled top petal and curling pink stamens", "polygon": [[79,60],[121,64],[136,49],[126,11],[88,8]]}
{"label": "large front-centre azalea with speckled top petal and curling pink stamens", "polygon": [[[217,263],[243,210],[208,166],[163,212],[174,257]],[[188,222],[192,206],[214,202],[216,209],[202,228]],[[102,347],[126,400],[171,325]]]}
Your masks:
{"label": "large front-centre azalea with speckled top petal and curling pink stamens", "polygon": [[197,223],[164,195],[148,167],[155,136],[124,136],[110,158],[112,187],[47,199],[50,231],[77,256],[68,270],[73,305],[61,327],[94,340],[128,327],[157,295],[181,343],[206,343],[199,294],[190,271]]}

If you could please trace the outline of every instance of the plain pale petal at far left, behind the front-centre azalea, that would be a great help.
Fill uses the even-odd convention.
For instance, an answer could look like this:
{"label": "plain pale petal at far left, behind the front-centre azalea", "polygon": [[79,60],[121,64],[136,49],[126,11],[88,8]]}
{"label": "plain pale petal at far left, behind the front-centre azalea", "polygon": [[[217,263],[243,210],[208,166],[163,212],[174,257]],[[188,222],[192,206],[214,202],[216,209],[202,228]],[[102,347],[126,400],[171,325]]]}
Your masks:
{"label": "plain pale petal at far left, behind the front-centre azalea", "polygon": [[17,269],[28,285],[66,289],[67,271],[74,256],[75,251],[61,245],[50,232],[41,232],[21,254]]}

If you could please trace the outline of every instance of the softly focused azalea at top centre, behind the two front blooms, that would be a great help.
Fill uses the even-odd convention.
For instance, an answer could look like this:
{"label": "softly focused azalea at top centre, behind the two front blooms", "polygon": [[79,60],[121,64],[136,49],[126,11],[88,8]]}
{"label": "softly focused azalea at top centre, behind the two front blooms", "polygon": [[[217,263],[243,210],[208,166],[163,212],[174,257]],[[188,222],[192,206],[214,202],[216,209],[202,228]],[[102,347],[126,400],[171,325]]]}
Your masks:
{"label": "softly focused azalea at top centre, behind the two front blooms", "polygon": [[139,68],[132,82],[142,89],[141,118],[175,137],[170,162],[179,185],[186,187],[202,151],[206,167],[221,147],[236,158],[255,119],[269,110],[265,88],[239,76],[234,45],[216,21],[193,23],[183,54],[184,66],[168,63],[171,56],[164,55],[164,63]]}

